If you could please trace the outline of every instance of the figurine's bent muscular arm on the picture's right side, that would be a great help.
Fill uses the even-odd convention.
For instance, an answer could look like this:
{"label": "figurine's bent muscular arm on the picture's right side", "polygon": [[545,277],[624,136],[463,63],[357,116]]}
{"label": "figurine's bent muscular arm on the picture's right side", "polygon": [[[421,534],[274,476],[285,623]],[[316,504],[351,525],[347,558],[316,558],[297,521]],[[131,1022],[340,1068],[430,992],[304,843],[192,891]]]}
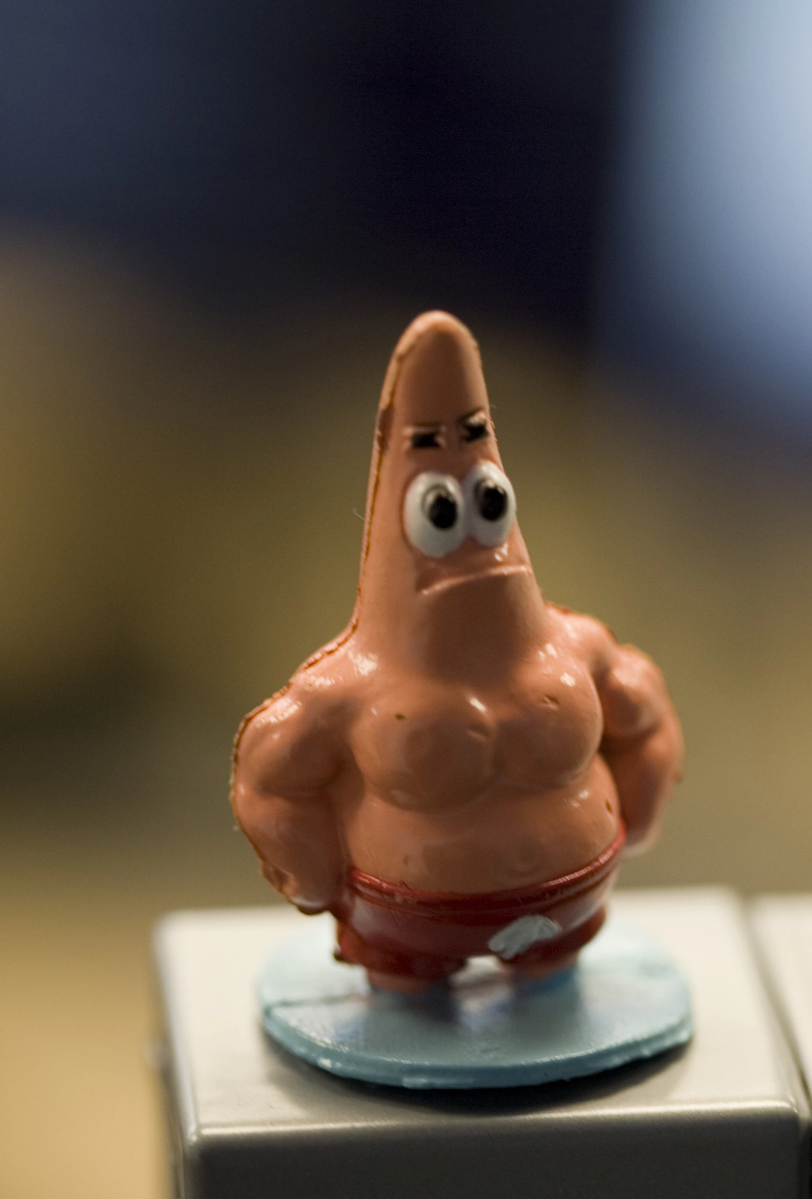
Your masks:
{"label": "figurine's bent muscular arm on the picture's right side", "polygon": [[656,840],[666,801],[681,777],[682,734],[662,674],[608,629],[596,671],[603,711],[601,754],[612,771],[626,824],[626,849]]}

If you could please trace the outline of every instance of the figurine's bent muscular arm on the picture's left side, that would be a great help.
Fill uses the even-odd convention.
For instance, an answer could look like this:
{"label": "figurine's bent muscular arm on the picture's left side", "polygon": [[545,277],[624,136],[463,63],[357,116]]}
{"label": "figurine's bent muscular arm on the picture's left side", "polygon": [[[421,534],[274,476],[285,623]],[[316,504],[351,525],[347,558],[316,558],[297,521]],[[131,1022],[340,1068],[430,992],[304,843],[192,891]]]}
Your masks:
{"label": "figurine's bent muscular arm on the picture's left side", "polygon": [[234,748],[231,807],[263,874],[307,914],[337,898],[344,852],[329,788],[342,753],[320,697],[293,683],[251,713]]}

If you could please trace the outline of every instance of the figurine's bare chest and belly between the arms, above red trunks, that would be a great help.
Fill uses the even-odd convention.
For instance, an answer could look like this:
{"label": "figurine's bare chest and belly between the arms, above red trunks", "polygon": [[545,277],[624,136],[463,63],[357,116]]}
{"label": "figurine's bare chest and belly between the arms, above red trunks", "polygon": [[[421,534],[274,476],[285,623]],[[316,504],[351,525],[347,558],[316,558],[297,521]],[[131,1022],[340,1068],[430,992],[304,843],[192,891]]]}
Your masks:
{"label": "figurine's bare chest and belly between the arms, above red trunks", "polygon": [[373,675],[348,730],[353,765],[333,789],[350,863],[463,893],[584,866],[619,829],[601,735],[599,697],[572,646],[548,641],[482,688]]}

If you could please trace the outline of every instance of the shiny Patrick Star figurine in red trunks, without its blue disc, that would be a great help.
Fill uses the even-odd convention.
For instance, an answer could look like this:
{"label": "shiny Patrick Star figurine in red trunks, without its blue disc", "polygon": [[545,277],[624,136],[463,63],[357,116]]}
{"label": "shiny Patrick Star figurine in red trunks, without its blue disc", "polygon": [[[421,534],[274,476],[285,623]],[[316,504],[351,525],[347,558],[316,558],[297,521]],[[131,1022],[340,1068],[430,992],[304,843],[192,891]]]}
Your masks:
{"label": "shiny Patrick Star figurine in red trunks, without its blue disc", "polygon": [[476,342],[419,317],[378,409],[351,620],[237,734],[265,878],[332,912],[377,992],[483,954],[545,980],[601,928],[681,754],[651,659],[542,598]]}

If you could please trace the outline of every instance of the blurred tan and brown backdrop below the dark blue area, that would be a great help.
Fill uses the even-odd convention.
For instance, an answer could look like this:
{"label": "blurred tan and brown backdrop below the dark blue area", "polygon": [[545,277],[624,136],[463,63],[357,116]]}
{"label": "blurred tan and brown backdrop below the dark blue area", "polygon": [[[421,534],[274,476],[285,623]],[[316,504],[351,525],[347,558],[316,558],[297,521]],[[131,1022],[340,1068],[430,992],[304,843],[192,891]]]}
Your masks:
{"label": "blurred tan and brown backdrop below the dark blue area", "polygon": [[[0,1194],[164,1193],[161,911],[271,899],[227,806],[242,712],[349,614],[408,303],[206,309],[104,247],[0,245]],[[802,453],[475,321],[546,594],[662,665],[687,769],[625,885],[810,887]],[[658,415],[657,415],[658,412]]]}

